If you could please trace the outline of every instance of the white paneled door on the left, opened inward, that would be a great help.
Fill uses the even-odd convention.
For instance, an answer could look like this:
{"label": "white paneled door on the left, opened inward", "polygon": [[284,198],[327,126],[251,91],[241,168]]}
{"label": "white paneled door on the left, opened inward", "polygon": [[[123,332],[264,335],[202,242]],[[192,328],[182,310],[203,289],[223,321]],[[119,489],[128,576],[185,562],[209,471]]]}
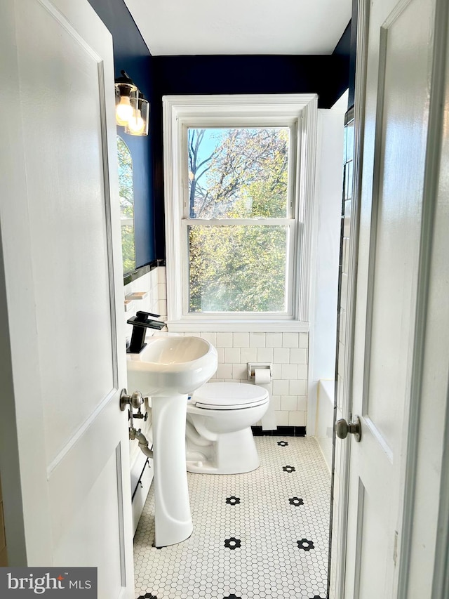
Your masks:
{"label": "white paneled door on the left, opened inward", "polygon": [[112,37],[87,0],[4,0],[1,480],[10,565],[133,596]]}

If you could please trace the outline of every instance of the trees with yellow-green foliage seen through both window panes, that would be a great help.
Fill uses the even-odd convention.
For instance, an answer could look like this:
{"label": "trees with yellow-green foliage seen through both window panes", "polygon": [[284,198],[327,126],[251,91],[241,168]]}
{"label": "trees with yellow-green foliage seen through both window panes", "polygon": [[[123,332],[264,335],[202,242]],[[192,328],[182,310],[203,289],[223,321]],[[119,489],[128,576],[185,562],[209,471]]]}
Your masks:
{"label": "trees with yellow-green foliage seen through both window panes", "polygon": [[204,130],[189,130],[190,217],[254,219],[189,227],[191,312],[286,309],[288,129],[225,129],[201,158]]}

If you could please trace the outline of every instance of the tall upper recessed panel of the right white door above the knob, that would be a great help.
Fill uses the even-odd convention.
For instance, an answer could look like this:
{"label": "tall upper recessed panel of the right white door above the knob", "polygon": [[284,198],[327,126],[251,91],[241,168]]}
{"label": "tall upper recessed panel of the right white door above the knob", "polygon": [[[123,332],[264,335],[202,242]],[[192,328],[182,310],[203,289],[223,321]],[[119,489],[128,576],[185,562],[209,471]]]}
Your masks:
{"label": "tall upper recessed panel of the right white door above the knob", "polygon": [[[377,147],[374,155],[372,325],[363,414],[392,452],[403,426],[398,397],[409,389],[420,249],[430,68],[429,27],[410,44],[422,6],[412,1],[380,31]],[[425,21],[424,21],[425,25]],[[368,301],[370,301],[368,300]]]}

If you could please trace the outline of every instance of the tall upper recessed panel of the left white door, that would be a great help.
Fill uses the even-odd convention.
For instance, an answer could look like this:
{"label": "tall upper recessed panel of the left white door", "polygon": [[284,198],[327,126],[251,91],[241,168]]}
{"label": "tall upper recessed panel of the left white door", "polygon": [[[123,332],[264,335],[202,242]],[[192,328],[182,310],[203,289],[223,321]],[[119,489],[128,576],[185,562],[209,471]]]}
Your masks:
{"label": "tall upper recessed panel of the left white door", "polygon": [[[105,105],[98,95],[103,65],[64,18],[38,2],[22,3],[17,18],[21,92],[31,100],[25,100],[23,126],[51,462],[116,386],[107,261],[111,232],[105,218],[109,198],[103,181]],[[45,39],[39,41],[35,22],[46,31]],[[35,102],[36,97],[43,101]],[[60,329],[52,323],[60,323]]]}

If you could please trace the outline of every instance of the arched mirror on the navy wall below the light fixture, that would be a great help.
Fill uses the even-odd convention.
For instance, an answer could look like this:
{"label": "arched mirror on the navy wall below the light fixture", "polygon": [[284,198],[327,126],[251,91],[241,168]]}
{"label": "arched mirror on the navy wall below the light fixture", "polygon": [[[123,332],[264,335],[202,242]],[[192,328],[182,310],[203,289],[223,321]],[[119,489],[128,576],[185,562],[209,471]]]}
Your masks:
{"label": "arched mirror on the navy wall below the light fixture", "polygon": [[135,270],[133,159],[128,146],[117,136],[123,275]]}

